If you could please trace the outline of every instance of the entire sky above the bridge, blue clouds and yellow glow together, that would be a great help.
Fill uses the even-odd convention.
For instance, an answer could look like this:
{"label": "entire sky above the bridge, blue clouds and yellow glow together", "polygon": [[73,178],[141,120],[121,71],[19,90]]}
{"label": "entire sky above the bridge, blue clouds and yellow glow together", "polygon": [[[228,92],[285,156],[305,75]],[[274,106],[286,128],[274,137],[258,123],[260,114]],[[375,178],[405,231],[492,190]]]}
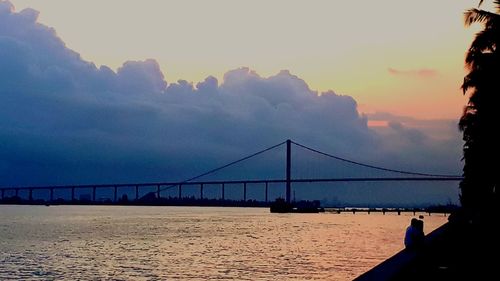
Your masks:
{"label": "entire sky above the bridge, blue clouds and yellow glow together", "polygon": [[180,180],[287,138],[460,174],[475,5],[2,0],[0,185]]}

